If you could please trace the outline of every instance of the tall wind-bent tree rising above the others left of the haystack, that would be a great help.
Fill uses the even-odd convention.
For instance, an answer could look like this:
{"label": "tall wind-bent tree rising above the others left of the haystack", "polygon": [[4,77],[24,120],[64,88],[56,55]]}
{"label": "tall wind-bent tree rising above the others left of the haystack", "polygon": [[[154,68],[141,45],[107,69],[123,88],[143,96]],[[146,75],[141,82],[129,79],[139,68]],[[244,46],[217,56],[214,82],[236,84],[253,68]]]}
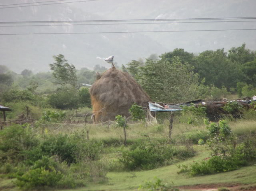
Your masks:
{"label": "tall wind-bent tree rising above the others left of the haystack", "polygon": [[57,83],[62,86],[69,84],[76,87],[77,76],[75,66],[73,64],[70,65],[62,54],[54,55],[53,58],[55,63],[49,64],[49,66]]}

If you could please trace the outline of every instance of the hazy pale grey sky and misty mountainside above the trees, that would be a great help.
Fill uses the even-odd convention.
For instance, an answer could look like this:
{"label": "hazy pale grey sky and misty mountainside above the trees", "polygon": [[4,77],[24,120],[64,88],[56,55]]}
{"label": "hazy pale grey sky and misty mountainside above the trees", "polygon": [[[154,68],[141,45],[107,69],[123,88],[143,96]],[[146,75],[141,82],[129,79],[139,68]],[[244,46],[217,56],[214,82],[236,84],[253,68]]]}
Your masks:
{"label": "hazy pale grey sky and misty mountainside above the trees", "polygon": [[[1,0],[0,5],[43,1],[46,0]],[[68,0],[67,2],[71,1],[77,0]],[[59,1],[57,2],[59,3]],[[227,17],[255,17],[255,19],[211,20],[243,22],[204,23],[195,23],[199,20],[189,21],[194,23],[163,23],[188,21],[141,21],[140,24],[134,24],[138,23],[134,21],[126,22],[132,24],[123,24],[125,22],[122,21],[119,24],[108,23],[109,25],[106,25],[106,22],[100,22],[101,25],[72,25],[88,24],[85,22],[1,23],[0,34],[256,29],[255,0],[98,0],[4,9],[2,7],[0,6],[0,22]],[[6,25],[48,24],[54,26],[3,27]],[[96,22],[89,24],[96,24]],[[132,59],[145,58],[152,53],[159,55],[172,51],[174,48],[183,48],[185,51],[194,53],[219,48],[225,48],[227,51],[231,47],[241,46],[243,43],[246,43],[247,48],[256,50],[256,31],[0,35],[0,65],[6,65],[16,72],[25,68],[33,72],[47,71],[49,70],[48,65],[53,62],[52,55],[63,54],[76,68],[92,69],[96,64],[110,67],[102,60],[96,59],[97,56],[114,55],[114,60],[120,66],[127,64]]]}

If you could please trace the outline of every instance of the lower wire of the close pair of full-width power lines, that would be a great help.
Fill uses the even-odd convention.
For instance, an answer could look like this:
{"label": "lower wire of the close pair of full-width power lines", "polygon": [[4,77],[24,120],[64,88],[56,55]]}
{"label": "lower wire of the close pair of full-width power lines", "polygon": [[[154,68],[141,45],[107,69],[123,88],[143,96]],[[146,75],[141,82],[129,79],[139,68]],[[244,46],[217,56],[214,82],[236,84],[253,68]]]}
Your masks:
{"label": "lower wire of the close pair of full-width power lines", "polygon": [[97,24],[44,24],[44,25],[0,25],[0,27],[43,27],[43,26],[73,26],[73,25],[118,25],[118,24],[180,24],[180,23],[218,23],[218,22],[255,22],[245,21],[198,21],[198,22],[144,22],[144,23],[97,23]]}

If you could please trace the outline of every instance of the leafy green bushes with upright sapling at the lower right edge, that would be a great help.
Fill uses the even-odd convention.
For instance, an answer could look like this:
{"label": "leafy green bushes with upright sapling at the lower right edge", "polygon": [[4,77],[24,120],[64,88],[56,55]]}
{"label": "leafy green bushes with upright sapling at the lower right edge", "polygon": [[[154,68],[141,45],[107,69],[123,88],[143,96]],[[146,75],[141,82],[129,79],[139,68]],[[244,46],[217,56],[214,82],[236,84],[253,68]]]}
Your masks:
{"label": "leafy green bushes with upright sapling at the lower right edge", "polygon": [[219,124],[207,123],[207,129],[210,136],[207,144],[213,152],[213,157],[206,161],[195,162],[189,168],[182,167],[180,172],[189,172],[193,176],[213,174],[236,170],[255,161],[254,136],[249,136],[237,146],[236,138],[226,121],[220,121]]}

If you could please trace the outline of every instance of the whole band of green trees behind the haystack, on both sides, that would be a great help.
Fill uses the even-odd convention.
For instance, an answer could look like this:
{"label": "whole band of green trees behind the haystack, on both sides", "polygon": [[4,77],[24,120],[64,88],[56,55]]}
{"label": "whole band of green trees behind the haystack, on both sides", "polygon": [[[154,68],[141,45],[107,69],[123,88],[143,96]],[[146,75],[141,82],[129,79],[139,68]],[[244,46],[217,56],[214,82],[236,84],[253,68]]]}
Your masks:
{"label": "whole band of green trees behind the haystack, on both sides", "polygon": [[[33,74],[24,69],[17,74],[0,65],[0,102],[30,101],[58,109],[90,107],[90,96],[83,84],[93,84],[94,70],[77,70],[64,55],[54,55],[51,72]],[[115,63],[117,68],[118,64]],[[256,52],[245,44],[224,49],[207,50],[199,55],[174,49],[160,56],[132,60],[120,70],[130,73],[154,101],[179,103],[193,99],[217,100],[238,94],[256,95]]]}

